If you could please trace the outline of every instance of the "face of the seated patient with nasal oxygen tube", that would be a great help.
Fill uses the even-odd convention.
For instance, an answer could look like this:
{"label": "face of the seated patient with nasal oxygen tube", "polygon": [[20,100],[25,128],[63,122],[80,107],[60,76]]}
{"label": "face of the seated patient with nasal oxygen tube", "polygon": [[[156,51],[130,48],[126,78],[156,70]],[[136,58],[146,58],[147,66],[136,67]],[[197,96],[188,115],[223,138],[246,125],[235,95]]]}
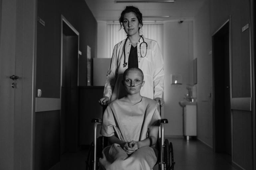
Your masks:
{"label": "face of the seated patient with nasal oxygen tube", "polygon": [[140,92],[144,85],[142,74],[137,70],[130,70],[125,75],[124,88],[128,94],[136,94]]}

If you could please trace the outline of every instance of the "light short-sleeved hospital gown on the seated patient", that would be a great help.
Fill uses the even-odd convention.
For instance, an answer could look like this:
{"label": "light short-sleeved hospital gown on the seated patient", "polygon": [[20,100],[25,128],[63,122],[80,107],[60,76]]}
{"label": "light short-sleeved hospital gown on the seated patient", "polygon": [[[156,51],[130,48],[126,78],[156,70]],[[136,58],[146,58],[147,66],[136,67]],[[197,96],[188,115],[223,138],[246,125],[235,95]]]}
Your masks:
{"label": "light short-sleeved hospital gown on the seated patient", "polygon": [[[142,141],[148,137],[148,131],[161,119],[158,102],[142,97],[132,106],[115,100],[109,104],[103,115],[100,134],[106,137],[115,135],[121,141]],[[119,144],[107,146],[102,151],[100,164],[106,170],[151,170],[157,161],[154,146],[144,146],[126,154]]]}

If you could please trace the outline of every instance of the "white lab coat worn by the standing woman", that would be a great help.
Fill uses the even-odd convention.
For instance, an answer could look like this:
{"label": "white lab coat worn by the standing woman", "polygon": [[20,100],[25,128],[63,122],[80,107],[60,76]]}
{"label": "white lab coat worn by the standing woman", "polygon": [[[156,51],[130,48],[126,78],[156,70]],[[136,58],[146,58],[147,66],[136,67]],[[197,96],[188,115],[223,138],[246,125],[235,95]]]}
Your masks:
{"label": "white lab coat worn by the standing woman", "polygon": [[[144,38],[144,36],[143,36]],[[148,44],[148,50],[145,58],[140,57],[140,43],[143,39],[140,38],[137,43],[138,51],[138,66],[143,71],[145,84],[141,88],[142,96],[154,99],[162,98],[164,92],[164,61],[159,45],[155,40],[144,38]],[[122,85],[123,73],[128,68],[123,67],[124,64],[124,46],[125,39],[117,43],[114,47],[111,63],[107,72],[107,79],[104,88],[104,96],[110,98],[110,102],[125,96],[126,91]],[[129,38],[125,45],[125,56],[128,63],[131,43]]]}

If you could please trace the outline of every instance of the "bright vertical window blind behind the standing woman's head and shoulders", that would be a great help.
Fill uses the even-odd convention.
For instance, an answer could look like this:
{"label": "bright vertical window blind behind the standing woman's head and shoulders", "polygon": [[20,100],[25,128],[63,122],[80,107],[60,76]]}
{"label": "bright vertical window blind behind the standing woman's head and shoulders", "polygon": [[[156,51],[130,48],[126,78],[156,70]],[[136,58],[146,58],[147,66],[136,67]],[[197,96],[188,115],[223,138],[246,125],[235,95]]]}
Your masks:
{"label": "bright vertical window blind behind the standing woman's head and shoulders", "polygon": [[[140,29],[140,35],[146,38],[156,40],[163,51],[163,24],[162,23],[144,23]],[[112,57],[114,46],[125,39],[126,33],[120,25],[116,23],[107,24],[107,54],[109,58]]]}

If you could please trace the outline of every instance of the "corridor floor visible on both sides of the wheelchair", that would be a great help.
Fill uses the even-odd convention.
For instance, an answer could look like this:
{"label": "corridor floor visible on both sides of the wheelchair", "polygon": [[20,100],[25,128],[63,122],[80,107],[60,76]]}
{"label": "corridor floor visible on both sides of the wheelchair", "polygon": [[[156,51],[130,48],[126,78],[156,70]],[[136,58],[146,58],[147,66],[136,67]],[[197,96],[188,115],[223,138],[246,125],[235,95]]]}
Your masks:
{"label": "corridor floor visible on both sides of the wheelchair", "polygon": [[[229,155],[213,153],[212,149],[198,140],[169,138],[173,143],[175,170],[236,170],[231,166]],[[88,149],[61,156],[61,170],[85,170]],[[154,170],[157,168],[154,168]]]}

